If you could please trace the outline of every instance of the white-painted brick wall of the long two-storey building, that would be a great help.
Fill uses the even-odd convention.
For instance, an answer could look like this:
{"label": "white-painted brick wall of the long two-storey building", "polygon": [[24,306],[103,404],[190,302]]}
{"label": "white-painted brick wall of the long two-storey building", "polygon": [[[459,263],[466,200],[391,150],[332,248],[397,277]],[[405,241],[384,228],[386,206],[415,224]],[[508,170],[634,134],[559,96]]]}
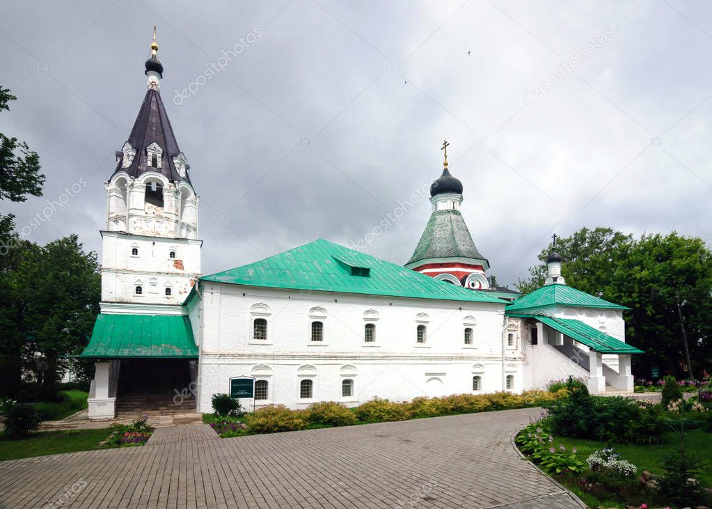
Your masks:
{"label": "white-painted brick wall of the long two-storey building", "polygon": [[[514,391],[523,389],[519,337],[515,347],[505,349],[505,360],[502,357],[503,304],[220,283],[205,283],[201,294],[203,300],[196,298],[190,305],[191,318],[199,312],[202,320],[197,327],[199,411],[211,411],[211,396],[228,392],[229,379],[241,375],[268,380],[269,399],[264,403],[292,408],[312,401],[358,404],[374,396],[406,400],[472,392],[474,374],[482,377],[485,392],[502,390],[506,374],[514,376]],[[314,345],[310,314],[320,312],[310,310],[317,307],[325,310],[326,318],[324,342]],[[256,317],[268,320],[266,341],[251,338]],[[366,322],[376,324],[375,345],[365,343]],[[416,342],[418,323],[427,326],[424,346]],[[468,325],[474,329],[472,347],[464,345],[466,323],[475,323]],[[315,375],[300,374],[300,367],[313,367]],[[356,374],[344,374],[352,372]],[[302,401],[298,388],[306,377],[314,381],[314,397]],[[354,396],[342,399],[341,382],[346,378],[355,382]],[[251,400],[243,403],[252,405]]]}

